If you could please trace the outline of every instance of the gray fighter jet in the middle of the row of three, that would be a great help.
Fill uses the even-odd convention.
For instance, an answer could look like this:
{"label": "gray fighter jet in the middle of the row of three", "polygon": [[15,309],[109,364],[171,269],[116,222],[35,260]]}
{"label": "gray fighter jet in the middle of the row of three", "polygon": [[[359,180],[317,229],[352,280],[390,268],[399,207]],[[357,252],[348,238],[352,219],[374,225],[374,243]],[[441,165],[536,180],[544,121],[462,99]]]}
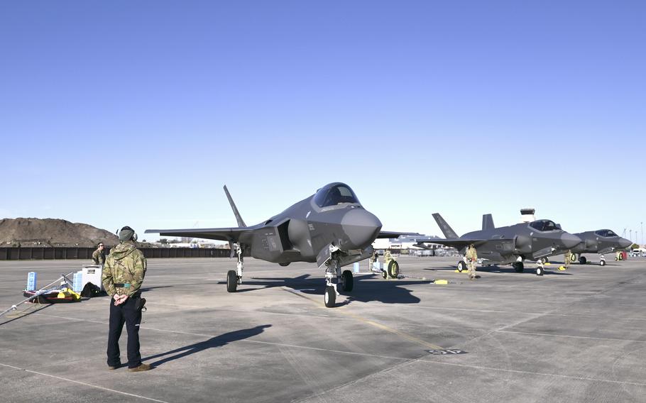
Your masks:
{"label": "gray fighter jet in the middle of the row of three", "polygon": [[[517,272],[524,269],[524,260],[538,260],[554,254],[557,250],[568,250],[581,243],[581,238],[567,233],[561,226],[550,220],[537,220],[513,226],[495,228],[491,214],[483,216],[482,231],[473,231],[457,236],[455,231],[435,213],[433,218],[442,229],[447,239],[417,238],[417,245],[424,248],[425,243],[439,243],[456,248],[464,255],[469,244],[473,243],[478,251],[478,258],[493,263],[512,263]],[[464,260],[458,263],[458,270],[466,269]],[[543,275],[542,265],[536,269],[537,275]]]}

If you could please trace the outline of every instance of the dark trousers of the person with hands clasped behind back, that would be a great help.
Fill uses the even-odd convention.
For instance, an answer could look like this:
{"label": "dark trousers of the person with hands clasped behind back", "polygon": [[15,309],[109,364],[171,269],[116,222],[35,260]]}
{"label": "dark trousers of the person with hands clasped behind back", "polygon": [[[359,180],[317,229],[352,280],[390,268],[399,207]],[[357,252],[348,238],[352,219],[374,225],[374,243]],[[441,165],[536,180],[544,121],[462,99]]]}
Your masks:
{"label": "dark trousers of the person with hands clasped behind back", "polygon": [[119,350],[119,337],[121,331],[128,332],[128,368],[141,365],[139,353],[139,324],[141,324],[141,311],[135,305],[138,297],[129,297],[123,304],[114,306],[114,299],[110,299],[110,329],[108,333],[108,365],[115,367],[121,364],[121,351]]}

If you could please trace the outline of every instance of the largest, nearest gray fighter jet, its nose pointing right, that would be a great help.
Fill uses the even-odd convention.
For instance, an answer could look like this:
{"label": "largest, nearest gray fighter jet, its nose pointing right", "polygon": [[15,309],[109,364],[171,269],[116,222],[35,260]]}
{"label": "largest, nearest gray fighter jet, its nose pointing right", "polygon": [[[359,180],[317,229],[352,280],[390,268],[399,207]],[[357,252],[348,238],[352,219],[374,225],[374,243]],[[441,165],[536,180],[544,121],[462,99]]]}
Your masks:
{"label": "largest, nearest gray fighter jet, its nose pointing right", "polygon": [[[352,272],[341,272],[341,267],[369,258],[376,238],[420,235],[381,231],[381,221],[361,206],[347,184],[340,182],[325,185],[312,196],[254,226],[246,226],[226,186],[224,192],[238,221],[237,227],[149,229],[146,233],[229,242],[231,258],[236,255],[238,263],[236,270],[226,274],[228,292],[236,292],[242,284],[243,255],[249,251],[253,258],[281,266],[292,262],[325,266],[325,306],[334,307],[339,295],[336,286],[341,285],[344,292],[351,292],[354,287]],[[391,272],[398,272],[398,264],[393,265],[396,267]]]}

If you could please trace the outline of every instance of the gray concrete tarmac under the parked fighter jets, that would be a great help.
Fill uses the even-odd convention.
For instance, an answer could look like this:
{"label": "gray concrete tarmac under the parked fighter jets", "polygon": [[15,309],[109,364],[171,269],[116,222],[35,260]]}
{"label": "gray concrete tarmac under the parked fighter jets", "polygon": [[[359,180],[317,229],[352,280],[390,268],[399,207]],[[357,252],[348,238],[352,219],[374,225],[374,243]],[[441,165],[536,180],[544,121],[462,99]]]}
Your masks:
{"label": "gray concrete tarmac under the parked fighter jets", "polygon": [[[0,401],[646,402],[646,258],[542,277],[481,267],[471,281],[456,258],[398,261],[400,280],[362,262],[325,308],[309,263],[248,258],[229,294],[235,260],[150,259],[140,336],[153,370],[107,369],[109,297],[23,304],[0,317]],[[0,262],[0,311],[24,299],[27,272],[42,286],[83,263]]]}

